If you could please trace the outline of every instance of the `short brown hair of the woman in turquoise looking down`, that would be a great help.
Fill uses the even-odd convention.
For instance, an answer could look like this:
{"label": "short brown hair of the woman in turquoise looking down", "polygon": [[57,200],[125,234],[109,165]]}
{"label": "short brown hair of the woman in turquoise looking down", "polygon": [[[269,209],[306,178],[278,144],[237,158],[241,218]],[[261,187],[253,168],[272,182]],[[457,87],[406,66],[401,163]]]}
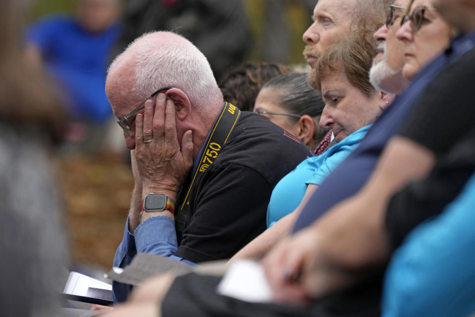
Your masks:
{"label": "short brown hair of the woman in turquoise looking down", "polygon": [[373,58],[377,54],[373,33],[380,26],[379,18],[365,15],[358,19],[348,38],[333,44],[319,58],[315,67],[316,77],[312,86],[321,91],[322,78],[329,71],[343,70],[349,82],[365,95],[373,95],[375,89],[369,80]]}

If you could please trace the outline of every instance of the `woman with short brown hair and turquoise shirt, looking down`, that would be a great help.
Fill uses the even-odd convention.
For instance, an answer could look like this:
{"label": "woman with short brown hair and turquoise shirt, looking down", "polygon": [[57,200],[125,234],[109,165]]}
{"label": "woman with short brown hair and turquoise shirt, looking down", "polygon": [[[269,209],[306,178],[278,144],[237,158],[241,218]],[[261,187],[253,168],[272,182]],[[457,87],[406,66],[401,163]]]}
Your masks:
{"label": "woman with short brown hair and turquoise shirt, looking down", "polygon": [[338,143],[323,155],[304,160],[280,180],[267,208],[270,228],[241,249],[233,261],[263,256],[288,232],[318,186],[358,147],[392,101],[393,95],[376,91],[369,82],[368,72],[377,52],[368,34],[371,36],[365,26],[358,28],[323,53],[315,67],[316,81],[311,85],[322,92],[325,102],[320,125],[332,128]]}

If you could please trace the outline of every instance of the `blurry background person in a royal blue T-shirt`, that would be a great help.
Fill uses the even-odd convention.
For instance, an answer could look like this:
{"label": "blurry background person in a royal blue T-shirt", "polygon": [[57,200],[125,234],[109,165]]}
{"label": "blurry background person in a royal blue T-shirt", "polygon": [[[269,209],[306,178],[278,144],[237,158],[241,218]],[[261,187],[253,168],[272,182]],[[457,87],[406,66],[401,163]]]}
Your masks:
{"label": "blurry background person in a royal blue T-shirt", "polygon": [[104,89],[119,13],[119,0],[78,0],[75,16],[41,18],[25,34],[27,59],[46,68],[68,106],[73,123],[66,139],[87,140],[91,150],[112,117]]}

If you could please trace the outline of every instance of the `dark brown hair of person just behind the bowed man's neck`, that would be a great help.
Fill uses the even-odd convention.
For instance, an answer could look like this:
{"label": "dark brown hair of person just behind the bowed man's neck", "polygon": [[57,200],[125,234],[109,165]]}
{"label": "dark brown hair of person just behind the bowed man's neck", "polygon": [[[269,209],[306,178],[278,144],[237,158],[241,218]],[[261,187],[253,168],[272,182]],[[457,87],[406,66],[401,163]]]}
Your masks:
{"label": "dark brown hair of person just behind the bowed man's neck", "polygon": [[224,100],[242,111],[252,111],[257,94],[270,79],[289,73],[282,64],[247,63],[228,70],[219,82]]}

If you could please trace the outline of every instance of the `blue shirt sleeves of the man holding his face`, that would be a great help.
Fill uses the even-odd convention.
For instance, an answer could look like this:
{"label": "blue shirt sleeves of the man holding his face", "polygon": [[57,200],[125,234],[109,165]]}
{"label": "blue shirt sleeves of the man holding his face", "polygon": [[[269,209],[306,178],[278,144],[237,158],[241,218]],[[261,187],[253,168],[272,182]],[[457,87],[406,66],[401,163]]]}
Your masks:
{"label": "blue shirt sleeves of the man holding his face", "polygon": [[[114,257],[115,267],[125,267],[132,262],[137,253],[151,253],[177,260],[189,265],[196,265],[186,259],[174,256],[178,249],[175,222],[166,216],[155,216],[143,221],[132,234],[129,231],[129,218],[124,230],[124,237]],[[127,300],[132,290],[131,285],[112,282],[114,302]]]}

